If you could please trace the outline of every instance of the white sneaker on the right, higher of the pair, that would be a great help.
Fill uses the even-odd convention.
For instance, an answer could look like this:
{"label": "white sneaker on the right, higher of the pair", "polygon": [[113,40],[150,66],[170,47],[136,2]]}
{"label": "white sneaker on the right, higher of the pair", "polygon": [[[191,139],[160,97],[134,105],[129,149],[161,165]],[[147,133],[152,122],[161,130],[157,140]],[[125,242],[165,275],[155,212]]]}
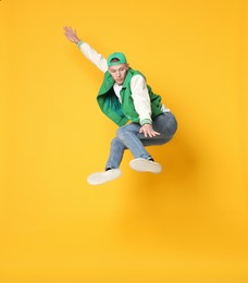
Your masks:
{"label": "white sneaker on the right, higher of the pair", "polygon": [[158,174],[162,171],[162,167],[159,163],[144,158],[131,160],[129,165],[138,172],[151,172]]}

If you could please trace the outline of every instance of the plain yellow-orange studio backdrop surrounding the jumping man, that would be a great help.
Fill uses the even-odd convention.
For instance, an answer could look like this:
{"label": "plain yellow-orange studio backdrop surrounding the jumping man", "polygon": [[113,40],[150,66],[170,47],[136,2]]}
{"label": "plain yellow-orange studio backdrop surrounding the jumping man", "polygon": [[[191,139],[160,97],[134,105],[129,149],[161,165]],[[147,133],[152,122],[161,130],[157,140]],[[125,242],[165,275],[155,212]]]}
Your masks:
{"label": "plain yellow-orange studio backdrop surrounding the jumping man", "polygon": [[[1,283],[248,282],[247,19],[246,0],[0,1]],[[176,115],[161,174],[126,152],[121,179],[86,183],[116,126],[64,25]]]}

